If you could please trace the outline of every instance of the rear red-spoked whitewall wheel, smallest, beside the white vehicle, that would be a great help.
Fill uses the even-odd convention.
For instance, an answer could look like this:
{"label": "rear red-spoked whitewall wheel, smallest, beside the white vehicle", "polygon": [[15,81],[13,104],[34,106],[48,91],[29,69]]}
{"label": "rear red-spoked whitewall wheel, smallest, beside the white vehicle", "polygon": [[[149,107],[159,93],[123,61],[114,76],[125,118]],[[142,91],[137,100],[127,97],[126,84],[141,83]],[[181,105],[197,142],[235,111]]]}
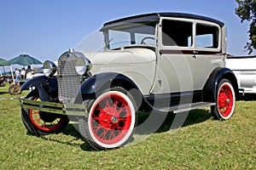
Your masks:
{"label": "rear red-spoked whitewall wheel, smallest, beside the white vehicle", "polygon": [[216,105],[211,107],[212,115],[218,120],[227,120],[235,110],[236,94],[232,83],[223,79],[218,85]]}

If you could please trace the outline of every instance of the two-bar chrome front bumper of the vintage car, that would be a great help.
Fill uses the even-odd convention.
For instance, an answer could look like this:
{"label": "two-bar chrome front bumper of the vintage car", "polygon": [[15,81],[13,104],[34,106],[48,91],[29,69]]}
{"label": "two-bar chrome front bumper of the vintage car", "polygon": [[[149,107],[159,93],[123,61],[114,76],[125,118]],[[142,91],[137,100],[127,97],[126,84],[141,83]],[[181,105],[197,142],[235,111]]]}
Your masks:
{"label": "two-bar chrome front bumper of the vintage car", "polygon": [[61,103],[20,98],[20,106],[25,110],[32,109],[67,116],[88,116],[87,106],[83,104],[64,105]]}

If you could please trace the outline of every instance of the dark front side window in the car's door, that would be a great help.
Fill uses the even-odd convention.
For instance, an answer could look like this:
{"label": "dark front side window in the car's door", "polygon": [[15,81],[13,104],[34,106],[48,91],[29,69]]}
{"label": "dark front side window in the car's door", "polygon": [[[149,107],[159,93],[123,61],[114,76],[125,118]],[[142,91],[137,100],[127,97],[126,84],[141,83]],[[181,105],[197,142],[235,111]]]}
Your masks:
{"label": "dark front side window in the car's door", "polygon": [[193,23],[180,20],[162,20],[164,46],[191,47]]}

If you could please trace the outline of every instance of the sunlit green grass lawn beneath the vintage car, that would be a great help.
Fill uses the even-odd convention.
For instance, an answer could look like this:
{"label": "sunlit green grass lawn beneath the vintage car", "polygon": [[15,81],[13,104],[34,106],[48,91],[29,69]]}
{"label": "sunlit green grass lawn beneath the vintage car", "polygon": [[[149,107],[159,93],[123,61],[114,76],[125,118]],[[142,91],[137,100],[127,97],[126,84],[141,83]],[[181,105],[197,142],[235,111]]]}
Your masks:
{"label": "sunlit green grass lawn beneath the vintage car", "polygon": [[169,130],[166,120],[142,142],[95,151],[72,124],[40,138],[27,133],[17,96],[7,92],[0,88],[0,99],[9,99],[0,100],[1,169],[256,169],[256,100],[237,101],[229,121],[213,120],[208,109],[195,110],[183,127]]}

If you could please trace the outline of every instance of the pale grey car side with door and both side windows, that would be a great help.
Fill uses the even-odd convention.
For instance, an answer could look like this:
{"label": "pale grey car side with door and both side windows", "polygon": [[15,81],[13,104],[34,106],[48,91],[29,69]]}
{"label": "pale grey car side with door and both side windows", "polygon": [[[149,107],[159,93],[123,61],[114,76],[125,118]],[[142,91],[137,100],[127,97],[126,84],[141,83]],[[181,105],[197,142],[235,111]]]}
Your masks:
{"label": "pale grey car side with door and both side windows", "polygon": [[152,94],[201,90],[218,66],[224,66],[219,26],[199,20],[162,18],[158,68]]}

